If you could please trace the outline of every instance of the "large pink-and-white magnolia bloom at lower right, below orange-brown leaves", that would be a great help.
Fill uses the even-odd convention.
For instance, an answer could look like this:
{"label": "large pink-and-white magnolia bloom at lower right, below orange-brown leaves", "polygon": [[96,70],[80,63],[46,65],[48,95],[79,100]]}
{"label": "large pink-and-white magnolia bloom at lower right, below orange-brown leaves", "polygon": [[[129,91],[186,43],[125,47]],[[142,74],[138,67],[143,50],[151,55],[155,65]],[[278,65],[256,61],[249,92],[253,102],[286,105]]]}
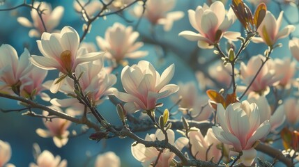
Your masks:
{"label": "large pink-and-white magnolia bloom at lower right, below orange-brown leaves", "polygon": [[240,159],[245,166],[250,166],[256,157],[254,143],[270,132],[269,120],[261,122],[259,112],[256,104],[247,101],[229,104],[227,109],[217,104],[217,120],[221,127],[213,127],[215,137],[233,145],[235,152],[242,152]]}

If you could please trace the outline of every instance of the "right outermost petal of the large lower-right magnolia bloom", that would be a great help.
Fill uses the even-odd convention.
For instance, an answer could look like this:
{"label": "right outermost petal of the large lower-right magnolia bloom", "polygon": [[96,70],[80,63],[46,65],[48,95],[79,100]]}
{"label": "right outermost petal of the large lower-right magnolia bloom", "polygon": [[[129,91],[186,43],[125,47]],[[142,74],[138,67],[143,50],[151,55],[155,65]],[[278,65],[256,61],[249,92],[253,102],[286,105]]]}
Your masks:
{"label": "right outermost petal of the large lower-right magnolia bloom", "polygon": [[252,134],[252,136],[248,139],[245,149],[252,148],[254,142],[266,137],[267,134],[270,132],[270,129],[271,125],[269,123],[269,120],[266,120],[256,129],[256,132],[254,132],[254,134]]}

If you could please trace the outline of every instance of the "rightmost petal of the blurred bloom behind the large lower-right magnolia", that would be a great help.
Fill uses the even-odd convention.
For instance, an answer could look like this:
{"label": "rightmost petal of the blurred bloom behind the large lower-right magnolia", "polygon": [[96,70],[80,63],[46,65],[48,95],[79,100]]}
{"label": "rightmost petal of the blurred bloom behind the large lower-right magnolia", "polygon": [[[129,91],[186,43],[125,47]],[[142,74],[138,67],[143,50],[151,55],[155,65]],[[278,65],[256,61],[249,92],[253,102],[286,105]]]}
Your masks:
{"label": "rightmost petal of the blurred bloom behind the large lower-right magnolia", "polygon": [[280,105],[277,107],[275,113],[273,113],[273,116],[270,117],[270,125],[271,125],[271,131],[275,131],[277,127],[282,125],[284,121],[286,120],[286,115],[284,113],[284,106]]}

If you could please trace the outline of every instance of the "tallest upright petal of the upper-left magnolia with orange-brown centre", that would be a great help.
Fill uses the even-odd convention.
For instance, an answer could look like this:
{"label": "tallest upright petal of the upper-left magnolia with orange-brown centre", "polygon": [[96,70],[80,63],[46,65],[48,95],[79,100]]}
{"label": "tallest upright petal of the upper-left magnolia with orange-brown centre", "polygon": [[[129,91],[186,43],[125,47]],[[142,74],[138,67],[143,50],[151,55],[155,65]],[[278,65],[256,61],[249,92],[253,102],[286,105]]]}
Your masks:
{"label": "tallest upright petal of the upper-left magnolia with orange-brown centre", "polygon": [[80,43],[77,31],[70,26],[65,26],[61,29],[61,34],[61,45],[63,49],[69,50],[72,53],[72,56],[75,56]]}

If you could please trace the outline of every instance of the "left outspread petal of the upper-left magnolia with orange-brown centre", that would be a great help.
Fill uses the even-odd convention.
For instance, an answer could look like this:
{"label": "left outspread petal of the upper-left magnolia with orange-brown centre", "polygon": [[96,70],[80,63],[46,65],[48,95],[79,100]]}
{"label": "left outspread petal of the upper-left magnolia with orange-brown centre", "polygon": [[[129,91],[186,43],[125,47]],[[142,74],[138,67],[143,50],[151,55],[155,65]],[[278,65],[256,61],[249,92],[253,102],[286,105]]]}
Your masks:
{"label": "left outspread petal of the upper-left magnolia with orange-brown centre", "polygon": [[52,58],[33,55],[29,58],[29,60],[33,65],[36,65],[36,67],[40,67],[44,70],[55,70],[57,68],[61,68],[61,66]]}

